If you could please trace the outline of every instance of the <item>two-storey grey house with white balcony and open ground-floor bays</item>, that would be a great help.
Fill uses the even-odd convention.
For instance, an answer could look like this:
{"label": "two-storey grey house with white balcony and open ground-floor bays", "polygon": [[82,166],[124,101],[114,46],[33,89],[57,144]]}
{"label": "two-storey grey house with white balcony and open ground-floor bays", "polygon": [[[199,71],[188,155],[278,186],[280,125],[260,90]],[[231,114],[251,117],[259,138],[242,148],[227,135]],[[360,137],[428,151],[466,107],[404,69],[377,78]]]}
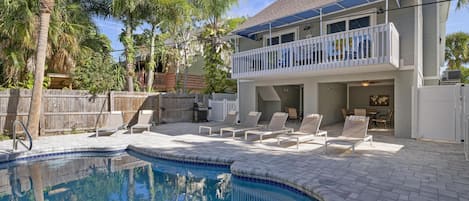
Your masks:
{"label": "two-storey grey house with white balcony and open ground-floor bays", "polygon": [[[415,132],[416,88],[436,85],[449,2],[278,0],[233,33],[241,120],[294,107],[343,121],[341,109],[391,116],[395,135]],[[388,12],[387,12],[388,11]],[[370,101],[377,97],[379,104]],[[392,112],[392,113],[391,113]]]}

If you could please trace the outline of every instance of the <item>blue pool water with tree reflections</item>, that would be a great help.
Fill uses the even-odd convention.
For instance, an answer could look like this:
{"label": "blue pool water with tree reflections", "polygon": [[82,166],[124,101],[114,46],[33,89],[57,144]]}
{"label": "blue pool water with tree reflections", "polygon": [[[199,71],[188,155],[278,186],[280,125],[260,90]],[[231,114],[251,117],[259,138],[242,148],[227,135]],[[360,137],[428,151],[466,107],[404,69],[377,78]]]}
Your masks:
{"label": "blue pool water with tree reflections", "polygon": [[0,164],[0,201],[315,201],[227,166],[114,156],[62,155]]}

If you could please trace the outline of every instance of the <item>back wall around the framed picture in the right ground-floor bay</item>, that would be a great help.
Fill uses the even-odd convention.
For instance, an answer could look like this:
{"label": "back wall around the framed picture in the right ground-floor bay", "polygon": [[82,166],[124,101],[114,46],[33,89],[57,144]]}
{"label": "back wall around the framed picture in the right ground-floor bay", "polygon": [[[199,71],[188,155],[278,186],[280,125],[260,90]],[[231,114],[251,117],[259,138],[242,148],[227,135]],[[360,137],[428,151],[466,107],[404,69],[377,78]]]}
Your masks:
{"label": "back wall around the framed picture in the right ground-floor bay", "polygon": [[[388,95],[389,106],[370,106],[371,95]],[[369,108],[383,112],[394,110],[394,86],[351,86],[349,88],[349,108]]]}

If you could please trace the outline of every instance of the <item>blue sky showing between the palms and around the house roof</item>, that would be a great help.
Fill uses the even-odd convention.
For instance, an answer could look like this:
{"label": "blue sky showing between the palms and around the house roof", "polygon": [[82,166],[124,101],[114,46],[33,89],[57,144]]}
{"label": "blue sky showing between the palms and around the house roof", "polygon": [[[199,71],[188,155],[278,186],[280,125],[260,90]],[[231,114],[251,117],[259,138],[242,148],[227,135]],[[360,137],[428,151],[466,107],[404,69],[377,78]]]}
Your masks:
{"label": "blue sky showing between the palms and around the house roof", "polygon": [[[233,8],[227,13],[228,17],[241,17],[241,16],[253,16],[268,5],[270,5],[274,0],[239,0],[238,5],[233,6]],[[450,14],[446,24],[447,34],[451,34],[458,31],[468,32],[469,33],[469,6],[456,10],[455,1],[451,2]],[[114,50],[122,50],[124,47],[119,41],[119,34],[122,32],[123,25],[121,22],[112,20],[109,18],[94,18],[97,23],[101,33],[107,35],[112,43],[112,48]],[[136,33],[142,32],[141,29],[137,29]],[[116,51],[113,53],[114,58],[118,58],[122,54],[122,51]]]}

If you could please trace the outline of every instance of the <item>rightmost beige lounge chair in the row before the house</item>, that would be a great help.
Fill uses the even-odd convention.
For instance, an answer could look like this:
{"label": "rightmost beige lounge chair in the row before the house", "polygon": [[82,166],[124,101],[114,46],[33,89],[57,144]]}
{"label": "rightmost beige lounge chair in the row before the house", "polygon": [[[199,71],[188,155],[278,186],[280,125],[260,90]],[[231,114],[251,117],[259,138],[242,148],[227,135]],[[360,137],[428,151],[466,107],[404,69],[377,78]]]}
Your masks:
{"label": "rightmost beige lounge chair in the row before the house", "polygon": [[373,145],[373,136],[367,134],[369,121],[369,117],[348,116],[342,135],[336,139],[326,140],[325,153],[327,153],[327,145],[329,144],[351,145],[352,152],[355,152],[355,146],[361,142],[369,141],[370,145]]}

